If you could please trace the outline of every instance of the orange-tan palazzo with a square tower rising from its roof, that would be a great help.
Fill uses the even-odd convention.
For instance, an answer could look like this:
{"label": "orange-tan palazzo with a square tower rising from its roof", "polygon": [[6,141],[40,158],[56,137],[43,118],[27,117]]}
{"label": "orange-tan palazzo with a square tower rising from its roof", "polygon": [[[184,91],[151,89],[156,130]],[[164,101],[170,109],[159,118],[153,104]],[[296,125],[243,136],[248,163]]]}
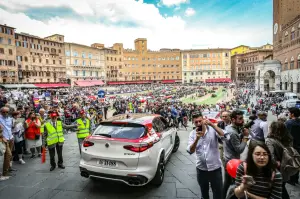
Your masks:
{"label": "orange-tan palazzo with a square tower rising from its roof", "polygon": [[134,41],[135,49],[124,49],[124,81],[148,80],[159,82],[174,80],[181,82],[181,60],[179,49],[151,51],[147,39]]}

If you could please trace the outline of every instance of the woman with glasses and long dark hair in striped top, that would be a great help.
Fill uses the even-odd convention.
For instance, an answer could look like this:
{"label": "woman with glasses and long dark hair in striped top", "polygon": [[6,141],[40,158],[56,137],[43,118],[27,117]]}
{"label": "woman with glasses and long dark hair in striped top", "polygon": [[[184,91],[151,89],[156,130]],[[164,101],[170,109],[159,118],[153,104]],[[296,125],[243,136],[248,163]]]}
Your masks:
{"label": "woman with glasses and long dark hair in striped top", "polygon": [[235,185],[237,198],[282,199],[281,173],[265,143],[256,141],[249,146],[246,163],[237,169]]}

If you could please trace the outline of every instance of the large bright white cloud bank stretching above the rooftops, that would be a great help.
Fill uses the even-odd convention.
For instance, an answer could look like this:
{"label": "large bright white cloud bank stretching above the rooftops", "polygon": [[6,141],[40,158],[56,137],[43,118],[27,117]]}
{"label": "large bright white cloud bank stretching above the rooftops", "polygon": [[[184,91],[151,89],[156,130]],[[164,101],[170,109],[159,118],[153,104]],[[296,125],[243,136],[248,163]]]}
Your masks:
{"label": "large bright white cloud bank stretching above the rooftops", "polygon": [[[95,42],[104,43],[105,46],[123,43],[124,48],[133,48],[134,39],[147,38],[151,50],[191,49],[193,46],[231,48],[240,44],[259,46],[272,41],[271,30],[257,24],[232,28],[230,24],[225,23],[220,25],[201,22],[189,27],[189,23],[181,17],[163,16],[157,7],[143,4],[142,1],[118,0],[118,3],[115,3],[112,0],[86,0],[82,2],[79,0],[73,0],[72,3],[69,3],[69,0],[1,0],[0,5],[5,4],[15,12],[0,8],[0,24],[13,26],[17,28],[17,32],[27,32],[40,37],[55,33],[63,34],[65,41],[85,45]],[[68,6],[81,16],[105,19],[106,22],[102,23],[100,20],[92,22],[88,17],[85,20],[53,17],[39,21],[23,13],[29,5],[30,7]],[[80,10],[81,6],[84,9]],[[122,24],[124,20],[137,26],[126,27],[113,23]]]}

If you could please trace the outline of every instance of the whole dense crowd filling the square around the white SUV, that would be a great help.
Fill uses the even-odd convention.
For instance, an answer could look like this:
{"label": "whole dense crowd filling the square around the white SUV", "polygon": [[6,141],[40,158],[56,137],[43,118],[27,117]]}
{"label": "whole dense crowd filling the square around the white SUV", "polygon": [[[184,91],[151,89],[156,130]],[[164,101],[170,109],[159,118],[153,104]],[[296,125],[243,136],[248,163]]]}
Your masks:
{"label": "whole dense crowd filling the square around the white SUV", "polygon": [[[203,91],[203,87],[212,90],[214,86],[146,84],[1,91],[0,156],[4,161],[0,180],[7,180],[15,174],[13,160],[25,164],[24,155],[39,158],[44,150],[49,151],[50,171],[56,166],[64,169],[63,134],[76,132],[80,152],[84,138],[113,109],[113,115],[160,114],[169,125],[178,129],[187,130],[188,121],[191,121],[194,129],[189,136],[187,151],[196,153],[197,180],[203,199],[209,198],[209,185],[214,199],[289,198],[285,184],[298,183],[299,174],[286,173],[281,169],[281,163],[286,147],[300,152],[297,134],[300,132],[299,109],[283,110],[278,106],[278,121],[269,125],[268,110],[279,101],[270,101],[273,96],[254,91],[252,85],[235,91],[228,85],[218,85],[232,93],[234,98],[214,105],[183,103],[181,100],[187,96],[197,97],[200,92],[206,95],[208,91]],[[111,95],[98,99],[99,89]],[[127,95],[116,95],[124,93]],[[253,103],[253,96],[260,100]],[[244,121],[245,112],[241,108],[247,110],[249,121]],[[214,124],[207,120],[202,115],[207,110],[220,112],[221,121]],[[237,168],[236,178],[227,171],[223,178],[221,167],[226,168],[233,159],[243,160]],[[235,186],[230,189],[232,184]]]}

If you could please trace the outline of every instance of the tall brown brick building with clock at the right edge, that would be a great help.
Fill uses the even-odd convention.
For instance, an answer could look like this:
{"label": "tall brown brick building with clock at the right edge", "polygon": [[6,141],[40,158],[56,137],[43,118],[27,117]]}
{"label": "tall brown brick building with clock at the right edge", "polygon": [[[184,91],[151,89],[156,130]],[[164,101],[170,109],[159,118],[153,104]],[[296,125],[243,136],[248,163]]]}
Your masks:
{"label": "tall brown brick building with clock at the right edge", "polygon": [[274,59],[281,63],[281,88],[300,93],[300,2],[274,0]]}

